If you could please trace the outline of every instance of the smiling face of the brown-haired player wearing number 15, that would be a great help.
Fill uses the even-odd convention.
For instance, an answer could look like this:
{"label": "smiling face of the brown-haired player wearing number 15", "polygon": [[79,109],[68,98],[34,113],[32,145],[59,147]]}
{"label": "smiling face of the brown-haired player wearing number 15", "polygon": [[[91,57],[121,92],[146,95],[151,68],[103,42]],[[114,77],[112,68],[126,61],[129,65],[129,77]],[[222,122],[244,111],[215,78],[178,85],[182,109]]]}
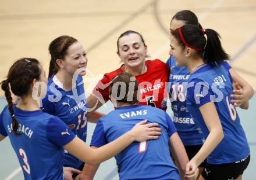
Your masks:
{"label": "smiling face of the brown-haired player wearing number 15", "polygon": [[74,72],[79,69],[79,76],[86,75],[87,56],[80,42],[75,42],[69,46],[65,59],[62,61],[62,68],[73,76]]}

